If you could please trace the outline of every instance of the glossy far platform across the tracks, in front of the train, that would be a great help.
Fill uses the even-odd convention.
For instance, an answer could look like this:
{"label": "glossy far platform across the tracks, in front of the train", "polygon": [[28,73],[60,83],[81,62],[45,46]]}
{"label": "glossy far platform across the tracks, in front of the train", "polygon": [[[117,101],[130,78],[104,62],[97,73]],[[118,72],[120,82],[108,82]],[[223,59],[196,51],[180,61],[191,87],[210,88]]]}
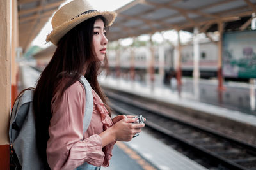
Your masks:
{"label": "glossy far platform across the tracks, in front of the train", "polygon": [[101,76],[100,85],[109,89],[121,90],[156,101],[202,111],[209,115],[234,120],[241,124],[256,127],[256,85],[248,83],[225,82],[225,90],[218,90],[216,80],[182,78],[181,89],[176,83],[163,85],[163,81],[140,83],[112,76]]}

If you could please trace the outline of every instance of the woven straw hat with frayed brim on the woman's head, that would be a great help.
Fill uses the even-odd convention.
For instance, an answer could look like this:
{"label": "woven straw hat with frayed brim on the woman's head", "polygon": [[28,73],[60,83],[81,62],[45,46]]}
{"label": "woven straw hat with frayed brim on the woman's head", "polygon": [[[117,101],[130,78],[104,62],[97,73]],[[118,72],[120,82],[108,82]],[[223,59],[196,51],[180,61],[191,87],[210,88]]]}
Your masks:
{"label": "woven straw hat with frayed brim on the woman's head", "polygon": [[86,0],[74,0],[62,6],[52,17],[52,32],[47,35],[46,41],[57,46],[58,41],[70,29],[84,20],[102,15],[106,18],[106,25],[110,26],[116,18],[114,11],[97,11]]}

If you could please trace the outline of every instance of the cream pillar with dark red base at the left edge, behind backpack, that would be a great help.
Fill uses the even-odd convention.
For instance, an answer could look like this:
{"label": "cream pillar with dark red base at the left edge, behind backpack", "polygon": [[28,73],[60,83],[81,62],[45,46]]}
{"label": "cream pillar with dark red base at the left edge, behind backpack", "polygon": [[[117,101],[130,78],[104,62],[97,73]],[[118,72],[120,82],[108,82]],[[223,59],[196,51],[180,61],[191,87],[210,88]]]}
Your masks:
{"label": "cream pillar with dark red base at the left edge, behind backpack", "polygon": [[11,106],[12,1],[0,1],[0,167],[9,169],[8,125]]}

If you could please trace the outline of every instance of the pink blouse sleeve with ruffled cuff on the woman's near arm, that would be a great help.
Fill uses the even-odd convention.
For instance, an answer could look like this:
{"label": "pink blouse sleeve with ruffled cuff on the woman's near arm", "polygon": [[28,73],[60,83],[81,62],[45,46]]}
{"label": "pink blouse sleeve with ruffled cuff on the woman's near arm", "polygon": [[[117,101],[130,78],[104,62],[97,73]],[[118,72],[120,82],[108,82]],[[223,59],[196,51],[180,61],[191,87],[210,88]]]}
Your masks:
{"label": "pink blouse sleeve with ruffled cuff on the woman's near arm", "polygon": [[84,87],[77,81],[64,92],[60,102],[52,99],[52,118],[47,141],[51,169],[74,169],[84,162],[101,166],[102,138],[94,134],[83,140]]}

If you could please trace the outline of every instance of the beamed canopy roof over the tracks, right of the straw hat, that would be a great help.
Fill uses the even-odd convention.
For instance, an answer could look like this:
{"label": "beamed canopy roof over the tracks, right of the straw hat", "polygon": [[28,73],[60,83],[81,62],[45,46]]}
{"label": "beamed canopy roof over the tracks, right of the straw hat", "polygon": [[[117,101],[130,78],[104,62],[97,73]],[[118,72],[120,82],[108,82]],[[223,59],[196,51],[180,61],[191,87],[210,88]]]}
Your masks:
{"label": "beamed canopy roof over the tracks, right of the straw hat", "polygon": [[[116,10],[110,41],[169,29],[200,32],[214,30],[219,22],[245,29],[256,13],[256,0],[135,0]],[[225,25],[227,26],[227,25]],[[215,28],[216,29],[216,28]]]}

